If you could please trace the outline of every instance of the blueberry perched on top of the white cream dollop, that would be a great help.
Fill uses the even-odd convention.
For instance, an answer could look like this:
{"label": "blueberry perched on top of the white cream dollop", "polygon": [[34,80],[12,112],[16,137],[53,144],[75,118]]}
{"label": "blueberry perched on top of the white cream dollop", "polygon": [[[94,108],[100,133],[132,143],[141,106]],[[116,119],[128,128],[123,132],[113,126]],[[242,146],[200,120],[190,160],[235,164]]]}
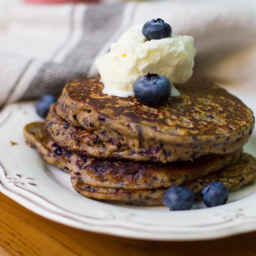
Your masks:
{"label": "blueberry perched on top of the white cream dollop", "polygon": [[147,40],[166,38],[172,35],[171,26],[162,19],[146,22],[142,27],[142,34]]}

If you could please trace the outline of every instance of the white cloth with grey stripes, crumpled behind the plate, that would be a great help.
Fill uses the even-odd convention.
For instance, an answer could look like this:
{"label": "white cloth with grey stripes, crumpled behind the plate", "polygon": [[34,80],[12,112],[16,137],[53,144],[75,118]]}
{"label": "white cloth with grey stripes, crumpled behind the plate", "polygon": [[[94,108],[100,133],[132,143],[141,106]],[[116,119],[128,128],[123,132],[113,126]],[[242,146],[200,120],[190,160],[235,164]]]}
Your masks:
{"label": "white cloth with grey stripes, crumpled behind the plate", "polygon": [[219,83],[256,111],[256,9],[198,1],[0,9],[0,106],[97,75],[98,55],[129,27],[156,18],[173,34],[194,37],[194,76]]}

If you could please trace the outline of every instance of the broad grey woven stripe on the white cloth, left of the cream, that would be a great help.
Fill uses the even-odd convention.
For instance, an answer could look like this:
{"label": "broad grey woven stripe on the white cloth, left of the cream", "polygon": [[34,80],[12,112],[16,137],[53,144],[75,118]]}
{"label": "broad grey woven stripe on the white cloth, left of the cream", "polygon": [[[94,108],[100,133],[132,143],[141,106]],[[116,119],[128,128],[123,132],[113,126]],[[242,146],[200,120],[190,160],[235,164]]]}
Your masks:
{"label": "broad grey woven stripe on the white cloth, left of the cream", "polygon": [[[73,36],[74,8],[79,8],[79,6],[74,5],[70,10],[70,34],[63,41],[63,45],[54,53],[53,59]],[[67,53],[61,63],[55,63],[51,60],[45,62],[21,99],[30,99],[49,92],[59,93],[68,81],[86,77],[99,49],[109,39],[109,36],[118,29],[122,12],[123,5],[120,4],[115,6],[89,6],[83,14],[82,36],[76,47]],[[33,60],[29,64],[31,62]],[[24,72],[26,72],[25,69]]]}

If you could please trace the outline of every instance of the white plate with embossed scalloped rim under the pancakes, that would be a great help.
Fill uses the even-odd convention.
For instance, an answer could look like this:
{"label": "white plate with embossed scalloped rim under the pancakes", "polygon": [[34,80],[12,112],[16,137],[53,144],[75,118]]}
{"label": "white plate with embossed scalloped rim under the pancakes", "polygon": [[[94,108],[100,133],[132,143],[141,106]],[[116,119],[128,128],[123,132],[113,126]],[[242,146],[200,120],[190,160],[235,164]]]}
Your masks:
{"label": "white plate with embossed scalloped rim under the pancakes", "polygon": [[[6,107],[0,114],[0,191],[53,221],[93,232],[150,239],[211,239],[256,230],[256,185],[230,194],[226,205],[189,211],[101,203],[76,193],[68,173],[54,168],[24,141],[25,124],[38,121],[32,103]],[[10,141],[18,145],[11,146]],[[245,151],[255,155],[256,137]]]}

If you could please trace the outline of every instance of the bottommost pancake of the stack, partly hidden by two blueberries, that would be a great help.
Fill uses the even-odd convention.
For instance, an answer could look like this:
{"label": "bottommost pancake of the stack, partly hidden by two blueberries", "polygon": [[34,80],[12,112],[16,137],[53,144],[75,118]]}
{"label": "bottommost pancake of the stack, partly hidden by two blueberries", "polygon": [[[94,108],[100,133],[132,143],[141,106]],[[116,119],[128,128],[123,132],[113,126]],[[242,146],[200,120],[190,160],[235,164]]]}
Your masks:
{"label": "bottommost pancake of the stack, partly hidden by two blueberries", "polygon": [[[223,182],[229,191],[237,190],[256,181],[256,159],[243,153],[237,164],[225,167],[218,172],[183,184],[194,194],[195,200],[201,200],[201,191],[210,183]],[[71,182],[74,189],[89,198],[110,203],[131,205],[163,205],[165,188],[125,190],[90,186],[79,180],[74,172],[71,173]]]}

